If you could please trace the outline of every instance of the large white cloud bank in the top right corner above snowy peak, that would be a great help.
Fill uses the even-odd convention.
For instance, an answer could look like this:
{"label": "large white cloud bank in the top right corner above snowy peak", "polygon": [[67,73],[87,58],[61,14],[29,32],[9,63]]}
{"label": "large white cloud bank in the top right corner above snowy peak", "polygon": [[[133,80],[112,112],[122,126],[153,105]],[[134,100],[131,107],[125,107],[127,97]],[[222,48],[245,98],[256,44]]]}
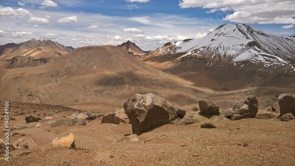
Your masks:
{"label": "large white cloud bank in the top right corner above snowy peak", "polygon": [[180,0],[179,6],[206,8],[211,13],[221,11],[223,20],[236,23],[295,24],[293,0]]}

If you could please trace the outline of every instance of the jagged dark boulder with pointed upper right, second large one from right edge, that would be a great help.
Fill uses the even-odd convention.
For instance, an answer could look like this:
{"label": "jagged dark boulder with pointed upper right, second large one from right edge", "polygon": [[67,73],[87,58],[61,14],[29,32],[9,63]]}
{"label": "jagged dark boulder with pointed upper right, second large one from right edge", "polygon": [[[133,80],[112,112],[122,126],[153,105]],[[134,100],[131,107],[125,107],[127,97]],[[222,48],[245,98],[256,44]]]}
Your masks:
{"label": "jagged dark boulder with pointed upper right, second large one from right edge", "polygon": [[258,100],[255,96],[249,96],[244,102],[236,103],[233,106],[234,114],[231,120],[243,118],[255,118],[258,112]]}

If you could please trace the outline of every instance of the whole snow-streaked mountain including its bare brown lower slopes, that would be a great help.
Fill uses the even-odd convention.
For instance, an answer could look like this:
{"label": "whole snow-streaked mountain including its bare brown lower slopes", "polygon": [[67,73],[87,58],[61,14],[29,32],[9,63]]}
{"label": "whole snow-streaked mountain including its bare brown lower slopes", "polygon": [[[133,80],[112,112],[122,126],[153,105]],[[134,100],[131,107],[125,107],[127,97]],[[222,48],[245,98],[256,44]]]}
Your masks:
{"label": "whole snow-streaked mountain including its bare brown lower slopes", "polygon": [[195,86],[295,87],[294,37],[245,24],[224,24],[203,38],[168,42],[138,58]]}

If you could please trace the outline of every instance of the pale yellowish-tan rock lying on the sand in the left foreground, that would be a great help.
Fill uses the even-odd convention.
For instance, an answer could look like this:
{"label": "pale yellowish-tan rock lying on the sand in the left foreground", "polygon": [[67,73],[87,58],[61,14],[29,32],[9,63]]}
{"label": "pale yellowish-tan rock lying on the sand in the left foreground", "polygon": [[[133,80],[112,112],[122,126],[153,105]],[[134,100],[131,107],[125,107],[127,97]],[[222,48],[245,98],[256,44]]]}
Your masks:
{"label": "pale yellowish-tan rock lying on the sand in the left foreground", "polygon": [[51,142],[52,147],[65,146],[71,149],[75,149],[75,137],[73,133],[69,133],[67,136],[57,137]]}

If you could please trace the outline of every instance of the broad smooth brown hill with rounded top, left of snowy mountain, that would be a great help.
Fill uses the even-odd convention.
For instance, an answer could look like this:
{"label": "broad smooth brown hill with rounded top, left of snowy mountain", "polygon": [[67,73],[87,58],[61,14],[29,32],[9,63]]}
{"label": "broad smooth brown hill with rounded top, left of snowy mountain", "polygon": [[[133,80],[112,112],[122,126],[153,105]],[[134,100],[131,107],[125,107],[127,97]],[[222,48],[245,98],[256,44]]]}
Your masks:
{"label": "broad smooth brown hill with rounded top, left of snowy mountain", "polygon": [[1,69],[0,100],[121,105],[135,93],[154,93],[179,105],[215,93],[149,66],[116,46],[81,47],[42,66]]}

